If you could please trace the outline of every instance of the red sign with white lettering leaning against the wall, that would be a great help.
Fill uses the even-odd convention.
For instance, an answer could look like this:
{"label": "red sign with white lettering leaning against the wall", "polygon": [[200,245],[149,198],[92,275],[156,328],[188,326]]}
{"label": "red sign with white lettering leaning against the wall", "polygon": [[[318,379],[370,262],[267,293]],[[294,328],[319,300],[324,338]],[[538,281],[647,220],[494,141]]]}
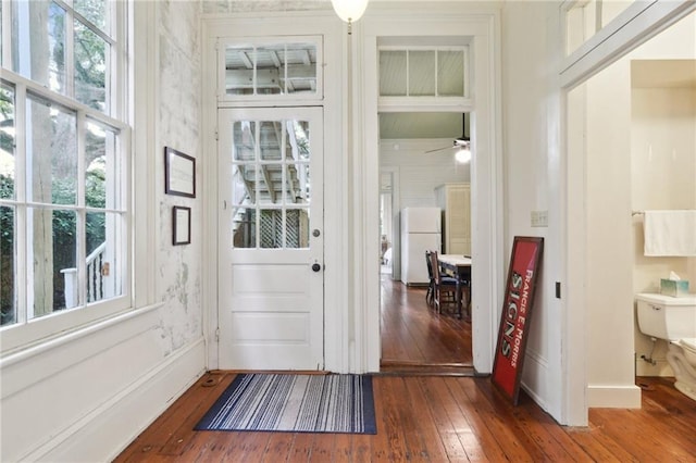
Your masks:
{"label": "red sign with white lettering leaning against the wall", "polygon": [[544,238],[515,236],[510,256],[492,380],[514,405],[520,392],[526,328],[543,248]]}

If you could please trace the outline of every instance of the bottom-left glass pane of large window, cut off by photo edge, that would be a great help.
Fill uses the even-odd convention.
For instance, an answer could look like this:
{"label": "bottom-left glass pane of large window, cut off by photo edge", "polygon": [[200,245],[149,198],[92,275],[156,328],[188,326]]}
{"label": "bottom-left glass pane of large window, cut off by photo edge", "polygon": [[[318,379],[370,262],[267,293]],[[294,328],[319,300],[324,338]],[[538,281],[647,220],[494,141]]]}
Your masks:
{"label": "bottom-left glass pane of large window, cut off by photo edge", "polygon": [[16,322],[14,209],[0,207],[0,325]]}

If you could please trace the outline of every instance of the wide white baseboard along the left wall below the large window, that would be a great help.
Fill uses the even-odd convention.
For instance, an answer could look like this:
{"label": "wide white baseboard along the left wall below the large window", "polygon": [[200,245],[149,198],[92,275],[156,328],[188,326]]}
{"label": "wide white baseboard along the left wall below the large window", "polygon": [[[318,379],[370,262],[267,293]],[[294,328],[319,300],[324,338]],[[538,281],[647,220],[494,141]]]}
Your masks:
{"label": "wide white baseboard along the left wall below the large window", "polygon": [[206,346],[199,338],[22,461],[112,461],[204,372]]}

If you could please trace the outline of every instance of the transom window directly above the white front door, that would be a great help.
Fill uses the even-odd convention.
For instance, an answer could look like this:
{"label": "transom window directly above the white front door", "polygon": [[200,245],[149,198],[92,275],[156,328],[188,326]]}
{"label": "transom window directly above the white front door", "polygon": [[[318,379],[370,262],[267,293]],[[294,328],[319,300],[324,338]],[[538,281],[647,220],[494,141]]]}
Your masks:
{"label": "transom window directly above the white front door", "polygon": [[322,97],[321,39],[254,39],[219,47],[220,100],[318,99]]}

